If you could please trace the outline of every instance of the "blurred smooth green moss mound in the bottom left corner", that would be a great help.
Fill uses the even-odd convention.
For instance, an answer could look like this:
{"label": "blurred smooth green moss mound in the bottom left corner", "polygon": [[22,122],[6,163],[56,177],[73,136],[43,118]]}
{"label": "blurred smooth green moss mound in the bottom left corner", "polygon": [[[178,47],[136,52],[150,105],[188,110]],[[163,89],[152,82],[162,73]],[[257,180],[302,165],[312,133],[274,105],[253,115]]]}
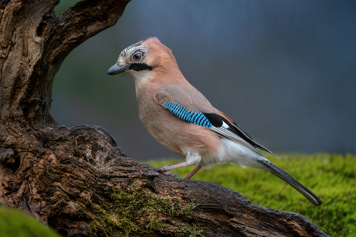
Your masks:
{"label": "blurred smooth green moss mound in the bottom left corner", "polygon": [[37,221],[30,215],[16,209],[0,206],[0,236],[1,237],[59,237],[48,226]]}

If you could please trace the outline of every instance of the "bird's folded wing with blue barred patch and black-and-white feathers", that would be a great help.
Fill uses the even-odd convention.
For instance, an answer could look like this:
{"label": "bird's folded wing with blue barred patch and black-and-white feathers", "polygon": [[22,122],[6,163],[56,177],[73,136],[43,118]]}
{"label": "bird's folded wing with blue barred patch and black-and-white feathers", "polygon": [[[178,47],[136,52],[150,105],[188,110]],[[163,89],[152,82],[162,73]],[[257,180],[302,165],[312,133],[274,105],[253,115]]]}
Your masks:
{"label": "bird's folded wing with blue barred patch and black-and-white feathers", "polygon": [[263,156],[262,153],[256,148],[274,155],[251,138],[233,120],[211,106],[210,102],[190,84],[174,87],[162,86],[155,93],[155,99],[157,103],[181,119],[210,128],[220,136],[238,142],[261,156]]}

